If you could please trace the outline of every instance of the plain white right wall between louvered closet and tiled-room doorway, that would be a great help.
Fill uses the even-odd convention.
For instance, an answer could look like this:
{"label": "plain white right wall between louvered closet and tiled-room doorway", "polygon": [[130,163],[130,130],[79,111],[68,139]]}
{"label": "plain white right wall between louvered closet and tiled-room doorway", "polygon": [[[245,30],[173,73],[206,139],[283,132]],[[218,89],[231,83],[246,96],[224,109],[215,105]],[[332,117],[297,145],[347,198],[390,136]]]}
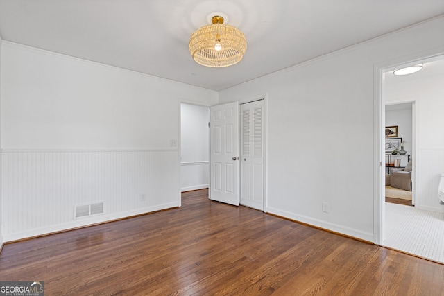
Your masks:
{"label": "plain white right wall between louvered closet and tiled-room doorway", "polygon": [[268,94],[266,211],[377,241],[374,65],[442,50],[443,31],[441,17],[219,93]]}

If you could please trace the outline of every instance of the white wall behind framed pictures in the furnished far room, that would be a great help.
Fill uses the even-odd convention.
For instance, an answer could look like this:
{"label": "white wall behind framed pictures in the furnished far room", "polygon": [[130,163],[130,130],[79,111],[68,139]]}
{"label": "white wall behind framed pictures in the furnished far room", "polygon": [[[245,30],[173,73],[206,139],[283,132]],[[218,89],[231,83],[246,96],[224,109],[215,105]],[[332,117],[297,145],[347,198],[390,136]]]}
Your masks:
{"label": "white wall behind framed pictures in the furnished far room", "polygon": [[[398,126],[398,137],[402,138],[404,143],[404,150],[407,154],[412,155],[413,152],[413,142],[412,142],[412,119],[413,114],[411,104],[409,108],[397,109],[397,110],[387,110],[386,109],[386,126]],[[400,159],[401,166],[407,165],[407,157],[392,156],[393,159]]]}

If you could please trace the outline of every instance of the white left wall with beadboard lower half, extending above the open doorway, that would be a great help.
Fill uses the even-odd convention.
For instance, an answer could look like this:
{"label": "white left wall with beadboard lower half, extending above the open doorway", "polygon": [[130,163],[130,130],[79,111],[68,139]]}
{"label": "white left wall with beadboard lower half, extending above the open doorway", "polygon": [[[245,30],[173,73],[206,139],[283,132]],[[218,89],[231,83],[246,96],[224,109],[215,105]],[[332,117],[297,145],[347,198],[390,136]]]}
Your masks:
{"label": "white left wall with beadboard lower half, extending above the open doorway", "polygon": [[[1,50],[5,241],[180,204],[178,104],[214,104],[216,92],[11,42]],[[73,218],[99,201],[105,214]]]}

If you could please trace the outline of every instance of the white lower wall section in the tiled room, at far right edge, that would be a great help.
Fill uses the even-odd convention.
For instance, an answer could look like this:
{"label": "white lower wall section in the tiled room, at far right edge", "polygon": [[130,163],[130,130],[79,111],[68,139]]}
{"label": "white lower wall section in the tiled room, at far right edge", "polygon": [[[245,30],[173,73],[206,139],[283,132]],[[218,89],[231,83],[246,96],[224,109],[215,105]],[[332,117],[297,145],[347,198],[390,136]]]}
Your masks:
{"label": "white lower wall section in the tiled room, at far right edge", "polygon": [[420,150],[418,190],[419,203],[416,207],[429,211],[444,212],[444,206],[439,204],[438,185],[441,173],[444,173],[444,149]]}

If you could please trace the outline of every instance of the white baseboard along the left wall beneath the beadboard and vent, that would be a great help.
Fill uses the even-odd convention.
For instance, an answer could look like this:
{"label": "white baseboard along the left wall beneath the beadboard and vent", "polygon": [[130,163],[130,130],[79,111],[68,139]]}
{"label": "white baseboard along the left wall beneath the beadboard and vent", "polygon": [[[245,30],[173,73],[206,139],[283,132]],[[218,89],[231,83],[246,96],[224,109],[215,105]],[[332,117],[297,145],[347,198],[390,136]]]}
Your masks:
{"label": "white baseboard along the left wall beneath the beadboard and vent", "polygon": [[21,240],[24,238],[32,238],[35,236],[52,234],[55,232],[63,232],[63,231],[67,231],[69,229],[74,229],[74,228],[78,228],[78,227],[85,227],[85,226],[95,225],[95,224],[99,224],[99,223],[106,223],[106,222],[110,222],[112,220],[118,220],[121,218],[128,218],[131,216],[137,216],[137,215],[141,215],[141,214],[149,214],[153,211],[160,211],[162,209],[169,209],[169,208],[173,208],[173,207],[179,207],[178,202],[171,202],[168,204],[158,204],[153,207],[145,207],[142,209],[135,209],[135,210],[121,212],[121,213],[117,213],[117,214],[97,215],[94,217],[89,216],[89,217],[85,217],[85,218],[78,218],[78,219],[72,221],[71,223],[65,223],[62,225],[51,225],[49,227],[44,227],[44,228],[40,228],[40,229],[32,229],[30,231],[21,232],[21,233],[17,233],[17,234],[6,234],[6,235],[3,235],[3,242],[7,243],[10,241],[18,241],[18,240]]}

